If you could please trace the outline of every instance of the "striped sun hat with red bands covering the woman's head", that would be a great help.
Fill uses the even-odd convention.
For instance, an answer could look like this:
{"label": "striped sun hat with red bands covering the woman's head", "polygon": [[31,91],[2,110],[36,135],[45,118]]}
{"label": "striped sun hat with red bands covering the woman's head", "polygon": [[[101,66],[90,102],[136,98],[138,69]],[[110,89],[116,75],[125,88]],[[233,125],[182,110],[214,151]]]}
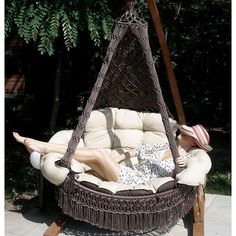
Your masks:
{"label": "striped sun hat with red bands covering the woman's head", "polygon": [[192,127],[187,125],[180,125],[179,130],[181,134],[193,137],[197,145],[206,152],[212,150],[212,147],[209,145],[210,136],[202,125],[194,125]]}

